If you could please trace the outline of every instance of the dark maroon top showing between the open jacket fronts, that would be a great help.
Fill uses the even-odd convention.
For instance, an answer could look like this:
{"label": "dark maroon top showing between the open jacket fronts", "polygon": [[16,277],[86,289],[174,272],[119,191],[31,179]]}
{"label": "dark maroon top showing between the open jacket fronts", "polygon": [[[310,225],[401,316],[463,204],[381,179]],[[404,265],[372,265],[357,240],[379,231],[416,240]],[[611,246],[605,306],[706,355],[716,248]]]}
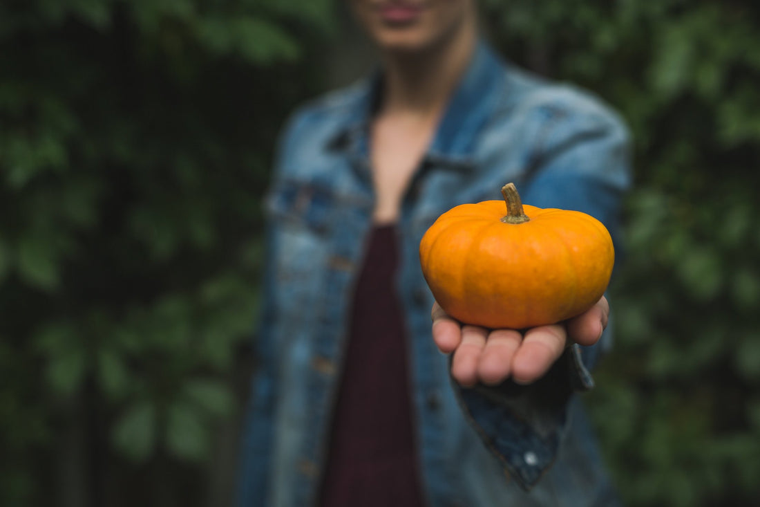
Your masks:
{"label": "dark maroon top showing between the open jacket fronts", "polygon": [[321,507],[423,505],[397,246],[392,225],[372,230],[353,300]]}

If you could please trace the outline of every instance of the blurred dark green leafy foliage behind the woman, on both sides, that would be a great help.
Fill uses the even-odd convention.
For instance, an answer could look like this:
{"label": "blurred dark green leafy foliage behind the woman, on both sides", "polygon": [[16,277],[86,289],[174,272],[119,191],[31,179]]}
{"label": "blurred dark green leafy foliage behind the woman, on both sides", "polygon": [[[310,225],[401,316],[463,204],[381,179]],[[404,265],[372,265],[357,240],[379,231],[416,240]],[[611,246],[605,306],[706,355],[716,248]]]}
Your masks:
{"label": "blurred dark green leafy foliage behind the woman, on both sides", "polygon": [[[587,396],[627,505],[760,498],[760,7],[481,0],[635,136]],[[331,0],[0,4],[0,504],[223,505],[277,132]],[[227,452],[220,449],[228,449]]]}

